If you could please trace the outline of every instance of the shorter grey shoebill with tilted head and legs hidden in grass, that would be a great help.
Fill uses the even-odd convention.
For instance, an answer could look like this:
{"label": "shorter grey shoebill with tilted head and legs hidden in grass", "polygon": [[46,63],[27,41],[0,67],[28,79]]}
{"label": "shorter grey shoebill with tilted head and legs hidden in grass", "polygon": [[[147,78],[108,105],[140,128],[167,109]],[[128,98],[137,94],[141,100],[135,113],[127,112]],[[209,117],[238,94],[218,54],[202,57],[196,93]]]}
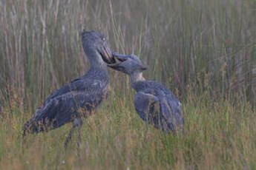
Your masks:
{"label": "shorter grey shoebill with tilted head and legs hidden in grass", "polygon": [[142,71],[146,68],[136,55],[112,53],[114,62],[108,67],[128,74],[130,84],[136,90],[134,106],[142,120],[164,132],[183,132],[181,103],[163,84],[146,81]]}

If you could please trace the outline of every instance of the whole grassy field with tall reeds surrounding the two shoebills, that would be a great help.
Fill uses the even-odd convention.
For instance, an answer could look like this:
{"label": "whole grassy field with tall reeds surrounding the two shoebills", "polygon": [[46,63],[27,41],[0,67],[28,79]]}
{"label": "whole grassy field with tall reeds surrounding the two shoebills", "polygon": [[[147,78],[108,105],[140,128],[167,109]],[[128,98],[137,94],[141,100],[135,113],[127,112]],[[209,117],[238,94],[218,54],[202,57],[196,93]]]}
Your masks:
{"label": "whole grassy field with tall reeds surrounding the two shoebills", "polygon": [[[255,0],[1,0],[0,169],[256,169],[255,16]],[[88,71],[83,29],[138,55],[180,98],[183,136],[145,125],[128,78],[110,69],[80,160],[77,134],[63,148],[71,124],[22,139],[36,106]]]}

